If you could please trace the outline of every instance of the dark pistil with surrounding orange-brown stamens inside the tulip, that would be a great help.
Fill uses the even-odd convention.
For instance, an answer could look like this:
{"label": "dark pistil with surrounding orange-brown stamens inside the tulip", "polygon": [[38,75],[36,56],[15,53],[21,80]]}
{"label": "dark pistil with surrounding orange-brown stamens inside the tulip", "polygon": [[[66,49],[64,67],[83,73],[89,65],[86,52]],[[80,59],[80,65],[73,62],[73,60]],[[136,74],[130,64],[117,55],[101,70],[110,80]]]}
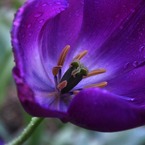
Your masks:
{"label": "dark pistil with surrounding orange-brown stamens inside the tulip", "polygon": [[[81,58],[83,58],[88,53],[87,50],[84,50],[81,53],[79,53],[75,58],[73,58],[68,70],[64,73],[63,76],[61,76],[61,69],[65,62],[69,49],[70,49],[69,45],[64,47],[58,59],[57,66],[53,67],[52,69],[56,90],[61,94],[70,92],[82,79],[106,72],[106,70],[103,68],[95,69],[89,72],[87,67],[80,62]],[[106,85],[107,82],[101,82],[98,84],[84,86],[84,88],[105,87]],[[75,90],[72,93],[73,94],[78,93],[81,89],[83,88]]]}

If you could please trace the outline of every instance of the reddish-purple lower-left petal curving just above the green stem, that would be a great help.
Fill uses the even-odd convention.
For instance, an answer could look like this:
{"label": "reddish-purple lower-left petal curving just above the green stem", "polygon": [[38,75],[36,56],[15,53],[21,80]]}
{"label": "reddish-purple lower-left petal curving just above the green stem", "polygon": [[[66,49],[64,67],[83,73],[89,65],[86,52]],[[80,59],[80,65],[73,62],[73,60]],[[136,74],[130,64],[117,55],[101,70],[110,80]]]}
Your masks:
{"label": "reddish-purple lower-left petal curving just above the green stem", "polygon": [[[65,115],[66,104],[60,98],[48,96],[46,91],[34,91],[30,86],[19,77],[19,71],[15,68],[14,78],[17,84],[18,97],[24,109],[32,116],[38,117],[57,117]],[[64,106],[64,108],[62,108]]]}

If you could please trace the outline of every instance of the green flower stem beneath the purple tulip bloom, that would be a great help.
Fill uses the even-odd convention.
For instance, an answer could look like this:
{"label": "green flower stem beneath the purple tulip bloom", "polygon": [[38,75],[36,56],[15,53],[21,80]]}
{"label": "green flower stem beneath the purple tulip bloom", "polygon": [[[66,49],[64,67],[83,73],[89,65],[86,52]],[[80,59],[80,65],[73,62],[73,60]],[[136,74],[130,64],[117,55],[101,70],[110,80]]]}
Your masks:
{"label": "green flower stem beneath the purple tulip bloom", "polygon": [[43,121],[43,119],[44,118],[33,117],[21,135],[6,145],[22,145],[22,143],[24,143],[32,135],[36,127]]}

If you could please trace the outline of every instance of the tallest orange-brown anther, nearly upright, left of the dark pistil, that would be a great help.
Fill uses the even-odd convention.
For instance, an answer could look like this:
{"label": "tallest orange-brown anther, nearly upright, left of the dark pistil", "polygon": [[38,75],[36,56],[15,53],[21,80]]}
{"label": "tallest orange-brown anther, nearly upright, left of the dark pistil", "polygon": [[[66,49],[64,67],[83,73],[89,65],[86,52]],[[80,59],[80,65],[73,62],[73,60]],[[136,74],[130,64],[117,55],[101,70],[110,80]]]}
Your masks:
{"label": "tallest orange-brown anther, nearly upright, left of the dark pistil", "polygon": [[60,66],[60,65],[63,66],[65,58],[66,58],[66,55],[68,54],[69,49],[70,49],[70,45],[66,45],[63,48],[63,50],[62,50],[62,52],[60,54],[60,57],[58,59],[58,63],[57,63],[58,66]]}

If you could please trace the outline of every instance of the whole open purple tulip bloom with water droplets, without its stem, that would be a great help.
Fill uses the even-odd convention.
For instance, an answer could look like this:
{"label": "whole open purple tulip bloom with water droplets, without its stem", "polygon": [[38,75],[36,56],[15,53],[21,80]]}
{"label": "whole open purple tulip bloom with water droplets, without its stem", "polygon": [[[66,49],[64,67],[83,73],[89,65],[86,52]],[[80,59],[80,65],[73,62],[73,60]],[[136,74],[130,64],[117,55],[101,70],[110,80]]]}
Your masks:
{"label": "whole open purple tulip bloom with water droplets, without its stem", "polygon": [[32,116],[103,132],[145,124],[144,0],[28,0],[12,45]]}

